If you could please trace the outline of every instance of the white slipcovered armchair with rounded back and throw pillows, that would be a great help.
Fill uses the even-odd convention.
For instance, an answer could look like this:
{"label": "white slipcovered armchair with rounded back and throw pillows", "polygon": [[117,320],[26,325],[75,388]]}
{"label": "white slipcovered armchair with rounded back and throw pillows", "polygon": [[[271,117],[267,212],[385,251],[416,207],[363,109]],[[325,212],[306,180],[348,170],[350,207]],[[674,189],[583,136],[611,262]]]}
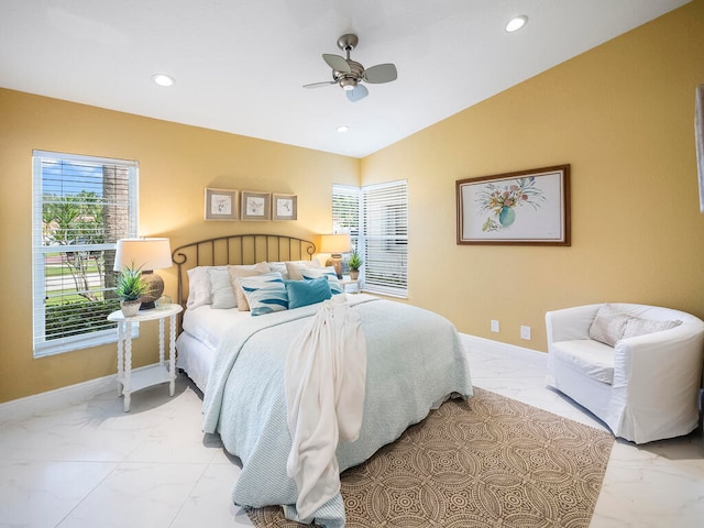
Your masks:
{"label": "white slipcovered armchair with rounded back and throw pillows", "polygon": [[[602,317],[604,310],[598,311],[602,306],[546,314],[548,385],[591,410],[616,437],[636,443],[696,429],[704,321],[679,310],[632,304],[608,305],[617,315],[627,316],[608,320]],[[600,322],[613,322],[610,330],[623,338],[614,346],[590,337],[597,312]],[[652,333],[624,334],[626,320],[639,323],[640,330],[654,321],[682,322]],[[592,336],[595,331],[592,329]]]}

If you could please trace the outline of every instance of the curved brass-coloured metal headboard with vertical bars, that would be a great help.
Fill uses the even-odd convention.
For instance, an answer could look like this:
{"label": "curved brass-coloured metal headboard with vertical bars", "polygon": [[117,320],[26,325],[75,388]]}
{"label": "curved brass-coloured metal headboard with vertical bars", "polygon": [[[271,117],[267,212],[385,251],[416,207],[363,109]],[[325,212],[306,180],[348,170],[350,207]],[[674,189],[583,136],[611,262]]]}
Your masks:
{"label": "curved brass-coloured metal headboard with vertical bars", "polygon": [[182,245],[172,252],[178,267],[178,304],[186,308],[188,270],[196,266],[302,261],[311,260],[315,253],[312,242],[280,234],[231,234]]}

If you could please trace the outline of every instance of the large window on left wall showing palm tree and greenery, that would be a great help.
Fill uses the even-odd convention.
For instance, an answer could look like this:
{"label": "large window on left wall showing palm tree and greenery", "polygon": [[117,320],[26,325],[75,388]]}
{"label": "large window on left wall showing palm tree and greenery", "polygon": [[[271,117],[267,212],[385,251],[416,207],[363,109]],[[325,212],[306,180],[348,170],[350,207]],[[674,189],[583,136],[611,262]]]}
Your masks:
{"label": "large window on left wall showing palm tree and greenery", "polygon": [[34,356],[114,341],[116,244],[136,235],[138,163],[33,153]]}

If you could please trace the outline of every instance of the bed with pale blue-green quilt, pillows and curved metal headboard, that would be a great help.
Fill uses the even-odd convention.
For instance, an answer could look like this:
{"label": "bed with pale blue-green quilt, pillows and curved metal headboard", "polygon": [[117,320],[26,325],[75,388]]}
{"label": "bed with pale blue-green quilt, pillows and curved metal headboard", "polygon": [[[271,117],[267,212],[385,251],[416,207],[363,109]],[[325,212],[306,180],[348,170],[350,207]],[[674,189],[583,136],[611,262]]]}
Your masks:
{"label": "bed with pale blue-green quilt, pillows and curved metal headboard", "polygon": [[[271,234],[209,239],[174,250],[178,300],[186,308],[176,342],[177,366],[204,393],[204,431],[219,433],[226,450],[242,462],[232,491],[233,503],[242,507],[280,505],[289,519],[315,520],[316,525],[334,528],[344,526],[339,472],[367,460],[449,397],[470,397],[472,384],[464,350],[450,321],[366,294],[336,295],[336,280],[312,257],[315,252],[312,242]],[[217,299],[220,283],[216,277],[224,282],[223,268],[233,274],[230,278],[235,300],[242,294],[237,286],[244,287],[250,311],[241,304],[230,306]],[[210,304],[202,292],[207,287],[204,272],[212,279]],[[266,287],[272,283],[276,288],[280,288],[279,283],[295,287],[287,289],[292,308],[276,308],[255,317],[261,304],[246,287],[262,282],[267,282]],[[315,298],[306,297],[312,301],[298,306],[300,298],[294,292],[321,283],[331,290],[331,298],[315,302]],[[366,376],[363,402],[359,402],[361,429],[354,441],[338,444],[336,440],[332,457],[338,486],[306,509],[298,477],[287,473],[287,459],[296,443],[292,437],[297,435],[289,431],[287,421],[286,360],[292,343],[299,342],[301,332],[308,331],[332,302],[344,305],[364,336]]]}

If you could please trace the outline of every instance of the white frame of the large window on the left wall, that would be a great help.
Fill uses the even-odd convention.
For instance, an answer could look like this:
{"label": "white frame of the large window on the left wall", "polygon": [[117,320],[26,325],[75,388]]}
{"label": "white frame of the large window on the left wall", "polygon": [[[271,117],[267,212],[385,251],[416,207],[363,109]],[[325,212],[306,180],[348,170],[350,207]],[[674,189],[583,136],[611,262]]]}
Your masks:
{"label": "white frame of the large window on the left wall", "polygon": [[[44,184],[43,167],[50,163],[74,163],[76,165],[100,166],[110,165],[127,169],[128,183],[128,213],[127,237],[138,234],[138,191],[139,191],[139,163],[136,161],[113,160],[107,157],[85,156],[79,154],[65,154],[57,152],[37,151],[33,152],[32,175],[33,175],[33,215],[32,215],[32,257],[33,257],[33,352],[34,358],[70,352],[74,350],[98,346],[117,341],[114,326],[98,331],[84,332],[76,336],[66,336],[56,339],[46,339],[46,304],[47,298],[47,276],[45,268],[45,255],[54,253],[57,248],[65,251],[64,246],[52,246],[45,241],[43,226],[44,207]],[[124,206],[124,204],[122,204]],[[100,244],[73,244],[72,252],[105,251],[114,250],[116,241],[103,241]],[[105,273],[112,273],[106,270]],[[134,336],[139,336],[138,324],[134,324]]]}

